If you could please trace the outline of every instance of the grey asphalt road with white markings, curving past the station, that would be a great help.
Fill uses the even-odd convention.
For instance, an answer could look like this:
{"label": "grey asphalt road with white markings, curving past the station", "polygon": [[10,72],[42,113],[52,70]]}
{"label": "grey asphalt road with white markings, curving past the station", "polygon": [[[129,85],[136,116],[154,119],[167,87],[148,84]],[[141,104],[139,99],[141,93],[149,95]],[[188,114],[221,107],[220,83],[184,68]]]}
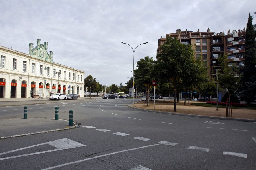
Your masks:
{"label": "grey asphalt road with white markings, curving past the station", "polygon": [[[0,169],[256,169],[256,123],[144,112],[131,103],[29,105],[28,117],[54,118],[59,107],[68,119],[73,110],[81,127],[0,140]],[[22,106],[0,107],[1,120],[22,117]]]}

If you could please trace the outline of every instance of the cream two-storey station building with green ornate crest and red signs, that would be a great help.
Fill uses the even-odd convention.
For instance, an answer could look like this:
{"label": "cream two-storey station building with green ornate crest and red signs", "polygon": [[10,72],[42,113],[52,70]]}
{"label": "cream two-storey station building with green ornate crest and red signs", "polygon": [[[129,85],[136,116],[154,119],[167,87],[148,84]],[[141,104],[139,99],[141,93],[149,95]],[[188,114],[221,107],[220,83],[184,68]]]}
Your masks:
{"label": "cream two-storey station building with green ornate crest and red signs", "polygon": [[29,43],[28,54],[0,46],[0,98],[48,98],[50,91],[83,97],[85,72],[54,63],[48,42],[40,41]]}

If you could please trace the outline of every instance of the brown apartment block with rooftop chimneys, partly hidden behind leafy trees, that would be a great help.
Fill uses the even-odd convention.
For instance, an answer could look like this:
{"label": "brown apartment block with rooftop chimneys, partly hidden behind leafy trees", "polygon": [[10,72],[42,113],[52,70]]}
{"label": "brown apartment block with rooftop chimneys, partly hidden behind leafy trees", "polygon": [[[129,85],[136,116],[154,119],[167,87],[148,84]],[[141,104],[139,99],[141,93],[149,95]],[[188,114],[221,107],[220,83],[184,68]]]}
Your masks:
{"label": "brown apartment block with rooftop chimneys, partly hidden behind leafy trees", "polygon": [[[166,34],[166,36],[161,36],[158,39],[157,54],[161,52],[160,47],[166,41],[166,37],[176,37],[182,44],[192,44],[195,50],[195,58],[201,58],[205,67],[208,68],[208,76],[216,75],[215,69],[218,67],[218,58],[224,53],[224,42],[225,35],[223,32],[214,33],[210,32],[210,28],[206,32],[181,31],[177,29],[175,33]],[[195,45],[195,46],[194,46]]]}

